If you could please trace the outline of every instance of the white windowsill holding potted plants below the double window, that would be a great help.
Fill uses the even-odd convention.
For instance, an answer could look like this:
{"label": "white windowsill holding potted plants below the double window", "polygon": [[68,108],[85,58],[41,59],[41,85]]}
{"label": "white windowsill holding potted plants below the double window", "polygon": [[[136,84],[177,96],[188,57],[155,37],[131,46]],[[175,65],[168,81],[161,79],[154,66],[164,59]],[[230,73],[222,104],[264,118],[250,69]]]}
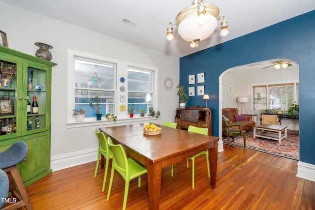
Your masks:
{"label": "white windowsill holding potted plants below the double window", "polygon": [[[99,126],[99,125],[106,125],[106,127],[112,127],[112,126],[119,126],[123,123],[130,123],[130,122],[145,122],[148,120],[157,120],[156,117],[151,116],[145,116],[145,117],[133,117],[133,118],[123,118],[123,119],[117,119],[116,122],[114,120],[107,120],[106,118],[102,118],[102,120],[90,120],[90,119],[84,119],[83,122],[67,122],[67,128],[77,128],[77,127],[88,127],[88,126]],[[108,125],[108,126],[107,126]]]}

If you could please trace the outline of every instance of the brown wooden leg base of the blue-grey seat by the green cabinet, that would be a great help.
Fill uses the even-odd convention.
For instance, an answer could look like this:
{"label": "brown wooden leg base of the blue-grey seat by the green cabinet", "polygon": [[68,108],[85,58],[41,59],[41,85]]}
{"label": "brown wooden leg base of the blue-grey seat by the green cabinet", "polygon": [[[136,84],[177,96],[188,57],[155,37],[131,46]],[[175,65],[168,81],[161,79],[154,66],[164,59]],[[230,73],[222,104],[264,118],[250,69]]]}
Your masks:
{"label": "brown wooden leg base of the blue-grey seat by the green cabinet", "polygon": [[[19,202],[16,202],[11,206],[3,208],[3,210],[20,209],[23,206],[25,206],[27,210],[32,210],[33,208],[18,168],[16,166],[12,166],[10,168],[3,169],[3,171],[8,174],[8,178],[10,181],[9,183],[10,192],[12,193],[14,198],[17,198],[19,200]],[[16,192],[16,188],[20,192],[20,195]]]}

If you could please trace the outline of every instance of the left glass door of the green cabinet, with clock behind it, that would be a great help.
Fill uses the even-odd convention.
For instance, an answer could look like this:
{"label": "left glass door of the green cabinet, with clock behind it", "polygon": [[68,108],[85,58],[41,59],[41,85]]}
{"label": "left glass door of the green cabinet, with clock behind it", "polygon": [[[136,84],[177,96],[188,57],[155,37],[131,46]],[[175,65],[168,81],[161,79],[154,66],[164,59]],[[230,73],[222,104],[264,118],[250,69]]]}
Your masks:
{"label": "left glass door of the green cabinet, with clock behind it", "polygon": [[0,140],[5,140],[21,135],[22,61],[0,59],[0,70]]}

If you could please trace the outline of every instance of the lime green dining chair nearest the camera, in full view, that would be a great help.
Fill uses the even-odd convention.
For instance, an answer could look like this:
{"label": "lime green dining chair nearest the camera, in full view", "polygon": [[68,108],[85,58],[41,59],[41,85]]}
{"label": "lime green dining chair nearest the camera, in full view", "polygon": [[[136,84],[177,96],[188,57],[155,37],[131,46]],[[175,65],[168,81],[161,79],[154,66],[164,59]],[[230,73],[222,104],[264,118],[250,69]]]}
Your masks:
{"label": "lime green dining chair nearest the camera, in full view", "polygon": [[114,145],[112,139],[108,137],[108,144],[111,146],[113,151],[113,161],[112,161],[112,172],[110,175],[109,188],[107,192],[106,201],[109,200],[110,191],[112,189],[114,172],[115,170],[124,178],[125,180],[125,194],[123,202],[123,210],[126,210],[129,181],[138,177],[138,187],[141,186],[141,175],[147,173],[147,167],[133,159],[132,157],[127,159],[125,150],[122,145]]}

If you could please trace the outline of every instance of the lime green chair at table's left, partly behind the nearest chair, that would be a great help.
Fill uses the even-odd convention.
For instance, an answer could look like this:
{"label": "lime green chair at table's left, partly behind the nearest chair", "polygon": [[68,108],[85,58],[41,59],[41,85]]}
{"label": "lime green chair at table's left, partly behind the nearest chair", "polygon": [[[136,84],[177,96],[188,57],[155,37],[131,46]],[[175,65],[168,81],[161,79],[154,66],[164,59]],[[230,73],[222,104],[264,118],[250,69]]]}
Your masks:
{"label": "lime green chair at table's left, partly behind the nearest chair", "polygon": [[113,152],[112,152],[112,149],[108,147],[108,143],[106,141],[106,137],[104,133],[98,132],[97,128],[95,128],[94,133],[96,134],[98,138],[98,153],[97,153],[97,161],[96,161],[94,178],[96,177],[98,164],[99,164],[99,158],[100,158],[100,155],[102,154],[106,159],[105,173],[104,173],[104,180],[103,180],[103,187],[102,187],[102,192],[104,192],[106,177],[107,177],[107,172],[108,172],[108,164],[109,164],[109,160],[113,158]]}

